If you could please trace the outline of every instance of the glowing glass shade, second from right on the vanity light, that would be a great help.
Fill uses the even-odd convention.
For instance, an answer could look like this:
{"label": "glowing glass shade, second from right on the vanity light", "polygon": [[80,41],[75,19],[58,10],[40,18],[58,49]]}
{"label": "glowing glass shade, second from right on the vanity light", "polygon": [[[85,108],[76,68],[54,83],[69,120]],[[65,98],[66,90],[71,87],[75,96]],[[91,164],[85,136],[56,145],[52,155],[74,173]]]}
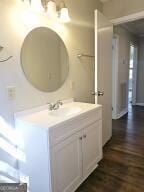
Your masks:
{"label": "glowing glass shade, second from right on the vanity light", "polygon": [[57,17],[56,3],[52,0],[48,1],[47,14],[50,17]]}

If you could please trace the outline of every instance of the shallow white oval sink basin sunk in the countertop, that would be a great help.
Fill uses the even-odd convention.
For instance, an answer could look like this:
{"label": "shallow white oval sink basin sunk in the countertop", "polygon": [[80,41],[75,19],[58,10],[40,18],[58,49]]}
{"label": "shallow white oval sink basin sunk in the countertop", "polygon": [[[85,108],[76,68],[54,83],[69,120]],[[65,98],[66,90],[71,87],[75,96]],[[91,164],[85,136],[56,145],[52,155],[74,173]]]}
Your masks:
{"label": "shallow white oval sink basin sunk in the countertop", "polygon": [[63,116],[74,115],[80,111],[81,111],[80,107],[63,107],[55,111],[49,112],[49,115],[63,117]]}

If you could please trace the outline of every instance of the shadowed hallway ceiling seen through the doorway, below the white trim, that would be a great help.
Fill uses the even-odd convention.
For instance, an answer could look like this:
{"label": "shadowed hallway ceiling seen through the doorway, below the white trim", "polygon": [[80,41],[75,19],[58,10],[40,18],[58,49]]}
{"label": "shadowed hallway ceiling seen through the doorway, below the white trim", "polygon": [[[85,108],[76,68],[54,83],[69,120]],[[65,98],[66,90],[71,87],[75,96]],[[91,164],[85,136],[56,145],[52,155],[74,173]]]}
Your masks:
{"label": "shadowed hallway ceiling seen through the doorway, below the white trim", "polygon": [[124,23],[121,26],[138,36],[144,36],[144,19]]}

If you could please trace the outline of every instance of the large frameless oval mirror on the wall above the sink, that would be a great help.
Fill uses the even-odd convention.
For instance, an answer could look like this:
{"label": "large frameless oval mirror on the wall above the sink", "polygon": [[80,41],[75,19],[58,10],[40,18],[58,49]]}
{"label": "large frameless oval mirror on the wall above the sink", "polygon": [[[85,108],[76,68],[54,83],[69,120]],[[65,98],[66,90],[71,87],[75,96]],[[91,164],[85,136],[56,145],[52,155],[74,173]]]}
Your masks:
{"label": "large frameless oval mirror on the wall above the sink", "polygon": [[21,66],[28,81],[37,89],[45,92],[57,90],[69,71],[64,42],[49,28],[35,28],[23,42]]}

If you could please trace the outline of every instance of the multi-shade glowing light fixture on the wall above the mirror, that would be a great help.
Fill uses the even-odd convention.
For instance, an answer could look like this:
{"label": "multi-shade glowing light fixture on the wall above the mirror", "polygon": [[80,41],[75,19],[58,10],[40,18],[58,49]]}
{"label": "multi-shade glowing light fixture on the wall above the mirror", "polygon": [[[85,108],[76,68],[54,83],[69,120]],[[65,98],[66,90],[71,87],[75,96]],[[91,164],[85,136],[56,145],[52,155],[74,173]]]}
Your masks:
{"label": "multi-shade glowing light fixture on the wall above the mirror", "polygon": [[36,11],[44,11],[51,18],[59,18],[61,22],[70,22],[69,10],[66,7],[64,1],[60,2],[57,6],[54,0],[22,0],[28,2],[32,8]]}

